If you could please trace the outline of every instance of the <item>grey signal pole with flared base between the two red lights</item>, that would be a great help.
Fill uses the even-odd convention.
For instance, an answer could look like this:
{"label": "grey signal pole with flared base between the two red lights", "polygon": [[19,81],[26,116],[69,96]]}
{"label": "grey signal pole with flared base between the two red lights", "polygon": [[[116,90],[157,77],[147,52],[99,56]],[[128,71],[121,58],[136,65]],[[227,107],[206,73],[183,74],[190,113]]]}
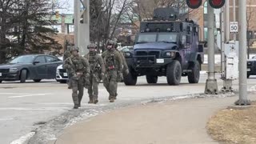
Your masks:
{"label": "grey signal pole with flared base between the two red lights", "polygon": [[214,71],[214,8],[207,2],[207,15],[208,15],[208,79],[206,80],[206,94],[217,94],[218,86],[215,78]]}

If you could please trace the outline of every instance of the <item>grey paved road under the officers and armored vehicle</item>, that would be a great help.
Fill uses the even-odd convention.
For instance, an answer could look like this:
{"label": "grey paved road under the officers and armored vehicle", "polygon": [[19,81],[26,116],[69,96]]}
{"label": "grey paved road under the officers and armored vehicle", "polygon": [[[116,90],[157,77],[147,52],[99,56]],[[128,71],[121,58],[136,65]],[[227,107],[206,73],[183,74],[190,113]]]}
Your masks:
{"label": "grey paved road under the officers and armored vehicle", "polygon": [[[125,86],[118,84],[118,100],[115,103],[143,101],[148,98],[161,98],[175,95],[198,94],[205,88],[206,74],[198,84],[189,84],[186,78],[182,78],[180,86],[168,86],[166,78],[158,79],[158,84],[148,85],[146,78],[138,78],[138,86]],[[256,85],[256,78],[248,80],[249,86]],[[218,79],[219,88],[222,81]],[[238,81],[234,82],[234,88],[238,89]],[[35,130],[50,119],[72,109],[73,102],[70,96],[71,90],[66,84],[60,84],[54,80],[39,83],[3,82],[0,84],[0,142],[10,143],[22,135]],[[105,88],[99,86],[98,106],[109,105],[108,94]],[[82,100],[82,107],[92,107],[86,104],[88,96]]]}

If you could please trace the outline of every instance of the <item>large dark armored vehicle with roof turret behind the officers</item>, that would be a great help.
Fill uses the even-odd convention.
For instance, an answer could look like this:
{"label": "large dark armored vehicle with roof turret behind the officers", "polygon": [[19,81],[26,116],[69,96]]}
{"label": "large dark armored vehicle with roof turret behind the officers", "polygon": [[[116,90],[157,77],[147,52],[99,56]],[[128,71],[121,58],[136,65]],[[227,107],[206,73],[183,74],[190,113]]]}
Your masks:
{"label": "large dark armored vehicle with roof turret behind the officers", "polygon": [[124,52],[130,70],[125,84],[134,86],[144,75],[148,83],[157,83],[161,76],[169,85],[179,85],[182,76],[198,83],[204,58],[198,37],[198,24],[180,20],[174,9],[154,10],[154,18],[140,23],[134,49]]}

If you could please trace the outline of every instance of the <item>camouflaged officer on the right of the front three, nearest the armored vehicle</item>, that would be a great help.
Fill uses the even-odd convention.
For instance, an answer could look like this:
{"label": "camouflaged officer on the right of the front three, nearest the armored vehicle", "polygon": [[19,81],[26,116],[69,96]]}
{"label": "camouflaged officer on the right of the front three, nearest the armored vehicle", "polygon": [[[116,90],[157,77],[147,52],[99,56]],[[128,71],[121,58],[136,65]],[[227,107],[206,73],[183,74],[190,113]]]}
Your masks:
{"label": "camouflaged officer on the right of the front three, nearest the armored vehicle", "polygon": [[106,51],[102,54],[102,58],[106,67],[106,74],[103,78],[103,84],[109,92],[110,102],[114,102],[117,96],[118,78],[122,78],[122,58],[117,50],[115,50],[114,41],[108,41]]}

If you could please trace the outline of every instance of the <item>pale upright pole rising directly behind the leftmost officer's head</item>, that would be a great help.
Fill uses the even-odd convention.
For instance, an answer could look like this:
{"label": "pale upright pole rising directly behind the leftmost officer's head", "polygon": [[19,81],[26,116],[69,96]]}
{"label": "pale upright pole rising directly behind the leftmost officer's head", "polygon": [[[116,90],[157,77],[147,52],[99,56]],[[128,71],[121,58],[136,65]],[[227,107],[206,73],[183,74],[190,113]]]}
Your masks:
{"label": "pale upright pole rising directly behind the leftmost officer's head", "polygon": [[80,2],[74,0],[74,46],[79,46]]}

